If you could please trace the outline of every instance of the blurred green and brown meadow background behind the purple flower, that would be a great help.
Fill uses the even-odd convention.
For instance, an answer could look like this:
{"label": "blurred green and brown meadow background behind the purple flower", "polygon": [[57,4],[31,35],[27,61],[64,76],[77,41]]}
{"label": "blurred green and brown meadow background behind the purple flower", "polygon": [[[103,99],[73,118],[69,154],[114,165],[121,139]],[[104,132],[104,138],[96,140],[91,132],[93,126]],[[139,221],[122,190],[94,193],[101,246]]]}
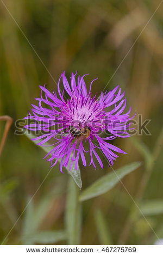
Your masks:
{"label": "blurred green and brown meadow background behind the purple flower", "polygon": [[[57,89],[55,81],[64,70],[67,77],[76,70],[79,75],[89,73],[85,79],[87,86],[98,77],[92,86],[93,94],[100,93],[108,81],[108,90],[120,84],[126,91],[128,108],[132,107],[131,114],[136,112],[142,114],[143,120],[151,119],[148,125],[151,136],[143,133],[134,139],[117,138],[114,142],[128,153],[118,157],[114,169],[142,161],[142,166],[126,176],[123,184],[141,205],[148,222],[141,214],[132,214],[133,200],[118,183],[109,192],[83,203],[81,244],[150,245],[158,239],[150,225],[163,237],[163,4],[159,4],[157,0],[0,2],[0,115],[14,119],[0,162],[1,242],[50,167],[49,162],[43,160],[42,149],[26,136],[14,134],[14,123],[28,114],[31,103],[36,103],[39,85],[46,83],[51,92]],[[1,138],[4,125],[1,121]],[[104,169],[98,167],[97,170],[92,166],[85,168],[82,161],[79,162],[82,189],[111,172],[104,157],[102,160]],[[68,174],[66,171],[61,174],[57,164],[4,244],[66,243],[63,234],[58,241],[53,241],[50,235],[51,240],[36,239],[35,242],[23,239],[23,234],[64,229],[67,180]]]}

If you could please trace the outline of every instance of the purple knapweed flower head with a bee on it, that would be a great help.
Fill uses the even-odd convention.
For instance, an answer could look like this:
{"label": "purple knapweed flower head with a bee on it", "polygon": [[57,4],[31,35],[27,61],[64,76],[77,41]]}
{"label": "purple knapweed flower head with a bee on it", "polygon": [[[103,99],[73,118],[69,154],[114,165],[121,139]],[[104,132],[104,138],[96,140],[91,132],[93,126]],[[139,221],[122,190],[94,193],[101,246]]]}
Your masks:
{"label": "purple knapweed flower head with a bee on it", "polygon": [[[92,96],[90,84],[86,88],[84,76],[76,79],[76,74],[71,75],[71,83],[68,83],[65,72],[61,74],[57,92],[49,92],[46,87],[41,88],[38,106],[32,105],[32,113],[25,119],[32,119],[33,124],[25,127],[29,130],[41,131],[43,134],[34,139],[41,139],[38,145],[45,145],[50,139],[54,139],[53,149],[46,155],[47,161],[54,166],[60,160],[62,167],[71,170],[74,164],[78,168],[79,157],[86,166],[85,154],[90,155],[90,164],[95,166],[95,158],[103,168],[99,157],[99,151],[105,155],[109,165],[118,157],[117,153],[126,154],[120,148],[109,143],[116,137],[129,137],[130,119],[129,113],[123,113],[126,107],[126,98],[121,94],[121,88],[115,87],[110,92]],[[60,89],[60,82],[64,86]],[[133,117],[132,117],[133,118]],[[104,136],[105,135],[105,136]],[[88,143],[88,150],[85,145]],[[52,146],[51,145],[51,146]],[[68,165],[69,163],[69,165]]]}

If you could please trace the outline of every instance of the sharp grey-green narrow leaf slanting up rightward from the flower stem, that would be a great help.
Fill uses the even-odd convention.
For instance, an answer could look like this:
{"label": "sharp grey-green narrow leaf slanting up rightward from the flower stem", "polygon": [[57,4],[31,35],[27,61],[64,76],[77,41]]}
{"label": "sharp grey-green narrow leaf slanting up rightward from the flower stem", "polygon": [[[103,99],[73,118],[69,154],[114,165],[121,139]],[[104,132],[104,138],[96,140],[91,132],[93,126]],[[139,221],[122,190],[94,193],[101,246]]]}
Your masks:
{"label": "sharp grey-green narrow leaf slanting up rightward from the flower stem", "polygon": [[102,178],[93,183],[90,187],[86,188],[79,197],[80,201],[84,201],[93,197],[97,197],[105,192],[111,190],[118,181],[120,181],[125,175],[133,172],[141,166],[140,162],[134,162],[121,167],[116,172],[111,172],[104,175]]}

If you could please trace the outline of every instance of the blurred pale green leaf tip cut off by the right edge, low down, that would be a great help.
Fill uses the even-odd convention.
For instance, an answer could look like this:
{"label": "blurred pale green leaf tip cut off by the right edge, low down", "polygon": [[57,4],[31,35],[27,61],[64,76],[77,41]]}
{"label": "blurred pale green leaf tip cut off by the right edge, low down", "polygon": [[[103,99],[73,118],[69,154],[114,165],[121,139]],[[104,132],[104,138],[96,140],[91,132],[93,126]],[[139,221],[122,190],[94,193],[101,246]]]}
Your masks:
{"label": "blurred pale green leaf tip cut off by the right edge, low down", "polygon": [[163,214],[163,200],[150,200],[140,205],[140,210],[144,215]]}

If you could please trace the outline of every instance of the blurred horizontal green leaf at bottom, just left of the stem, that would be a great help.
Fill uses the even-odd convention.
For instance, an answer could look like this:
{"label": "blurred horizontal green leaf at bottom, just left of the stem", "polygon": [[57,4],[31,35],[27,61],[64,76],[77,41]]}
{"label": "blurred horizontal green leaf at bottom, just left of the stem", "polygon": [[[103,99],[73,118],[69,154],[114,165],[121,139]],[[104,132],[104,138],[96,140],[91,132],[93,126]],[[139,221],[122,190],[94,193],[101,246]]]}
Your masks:
{"label": "blurred horizontal green leaf at bottom, just left of the stem", "polygon": [[[62,240],[66,240],[66,232],[65,230],[56,230],[56,231],[39,231],[35,234],[30,235],[30,240],[33,243],[57,243]],[[24,237],[24,240],[28,240],[28,237]]]}

